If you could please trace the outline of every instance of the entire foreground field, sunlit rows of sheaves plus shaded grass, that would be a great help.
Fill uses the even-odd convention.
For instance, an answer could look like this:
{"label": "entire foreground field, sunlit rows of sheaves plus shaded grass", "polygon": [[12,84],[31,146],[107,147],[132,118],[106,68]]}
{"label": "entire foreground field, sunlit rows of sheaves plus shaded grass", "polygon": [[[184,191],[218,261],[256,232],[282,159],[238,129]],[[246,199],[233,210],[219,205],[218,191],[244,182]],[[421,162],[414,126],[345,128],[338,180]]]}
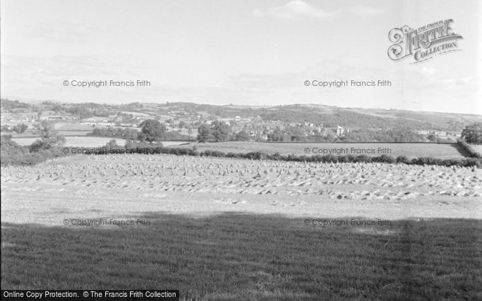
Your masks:
{"label": "entire foreground field, sunlit rows of sheaves plus shaded grass", "polygon": [[[457,166],[173,155],[10,166],[1,285],[161,287],[202,300],[480,299],[481,192],[482,170]],[[368,220],[391,225],[356,223]]]}

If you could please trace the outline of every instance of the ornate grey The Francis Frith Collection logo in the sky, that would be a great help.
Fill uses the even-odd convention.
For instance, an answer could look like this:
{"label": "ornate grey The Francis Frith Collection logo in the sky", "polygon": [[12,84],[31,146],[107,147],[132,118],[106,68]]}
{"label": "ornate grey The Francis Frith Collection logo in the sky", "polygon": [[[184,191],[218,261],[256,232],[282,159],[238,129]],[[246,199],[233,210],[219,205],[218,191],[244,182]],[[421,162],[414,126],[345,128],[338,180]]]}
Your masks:
{"label": "ornate grey The Francis Frith Collection logo in the sky", "polygon": [[452,21],[437,21],[417,29],[412,29],[408,25],[393,28],[388,32],[390,42],[394,43],[388,48],[388,57],[391,60],[412,57],[414,64],[460,50],[457,39],[462,36],[453,32],[450,27]]}

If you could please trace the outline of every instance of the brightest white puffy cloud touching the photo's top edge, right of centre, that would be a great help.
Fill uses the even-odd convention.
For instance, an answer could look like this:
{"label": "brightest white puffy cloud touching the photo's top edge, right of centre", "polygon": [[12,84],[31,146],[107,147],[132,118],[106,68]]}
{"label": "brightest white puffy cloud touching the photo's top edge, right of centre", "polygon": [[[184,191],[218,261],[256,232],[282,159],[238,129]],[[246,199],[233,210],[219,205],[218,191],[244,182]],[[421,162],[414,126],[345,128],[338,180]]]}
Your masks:
{"label": "brightest white puffy cloud touching the photo's top edge, right of centre", "polygon": [[329,19],[334,16],[333,12],[326,12],[302,0],[293,0],[282,6],[269,8],[266,12],[255,8],[253,16],[271,16],[277,19],[315,18]]}

